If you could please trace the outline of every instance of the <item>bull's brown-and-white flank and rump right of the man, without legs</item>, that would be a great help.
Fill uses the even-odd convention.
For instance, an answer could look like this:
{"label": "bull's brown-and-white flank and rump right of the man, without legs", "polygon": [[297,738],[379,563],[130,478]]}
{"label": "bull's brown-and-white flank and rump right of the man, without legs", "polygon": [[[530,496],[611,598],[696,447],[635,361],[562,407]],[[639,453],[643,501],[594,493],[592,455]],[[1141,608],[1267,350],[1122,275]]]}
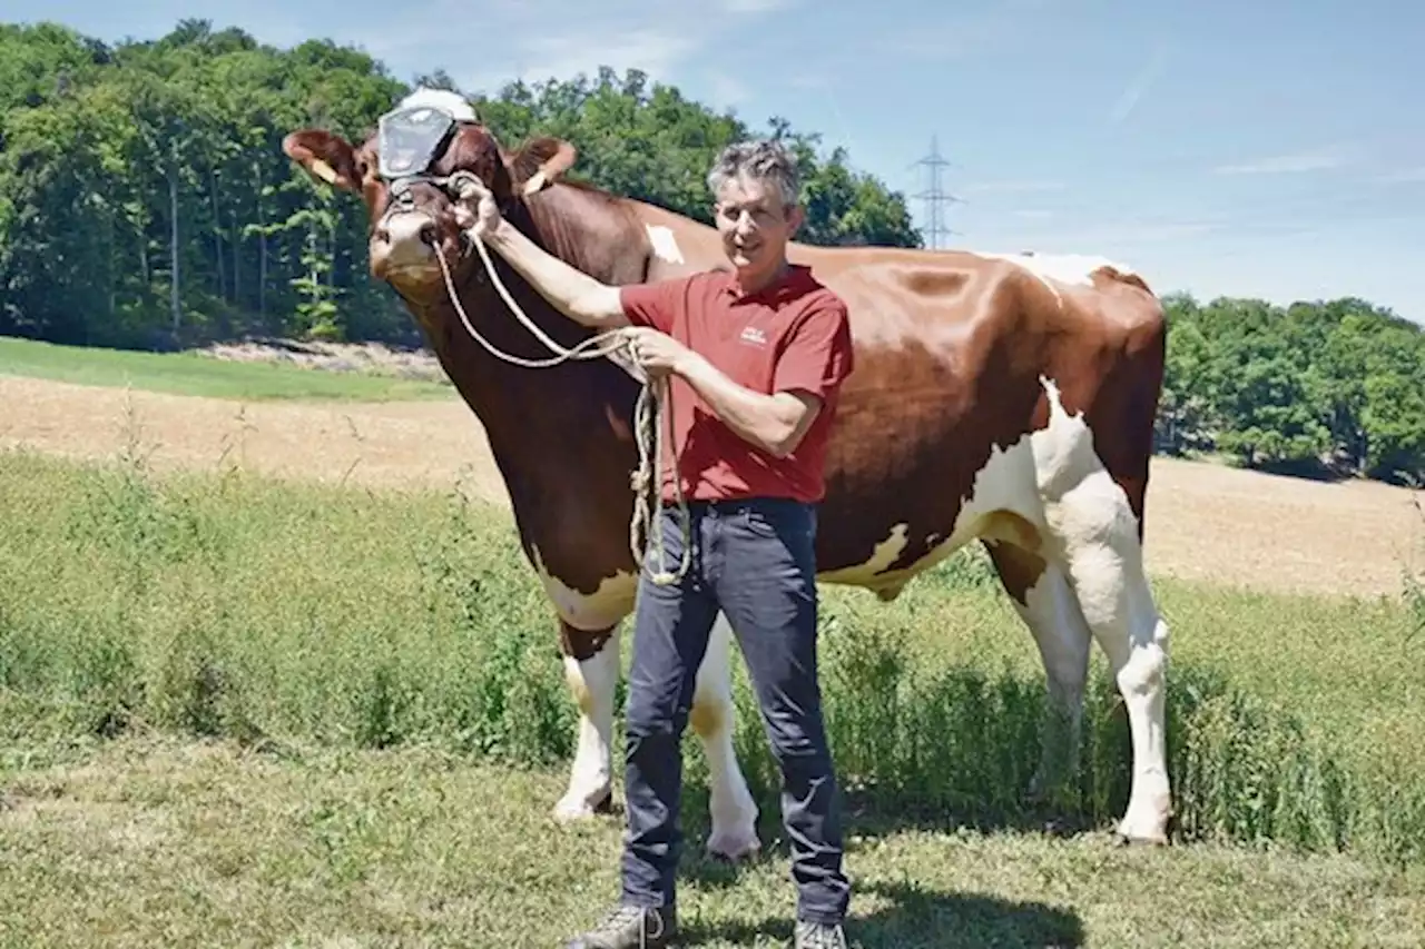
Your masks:
{"label": "bull's brown-and-white flank and rump right of the man, without legs", "polygon": [[1067,284],[1012,262],[915,252],[818,272],[848,301],[856,341],[828,459],[828,579],[875,586],[866,577],[1033,523],[1040,472],[1025,446],[1056,410],[1112,415],[1107,453],[1121,463],[1110,467],[1137,477],[1137,436],[1151,439],[1156,408],[1154,398],[1144,419],[1143,399],[1160,375],[1133,361],[1151,353],[1160,309],[1134,279],[1102,271]]}

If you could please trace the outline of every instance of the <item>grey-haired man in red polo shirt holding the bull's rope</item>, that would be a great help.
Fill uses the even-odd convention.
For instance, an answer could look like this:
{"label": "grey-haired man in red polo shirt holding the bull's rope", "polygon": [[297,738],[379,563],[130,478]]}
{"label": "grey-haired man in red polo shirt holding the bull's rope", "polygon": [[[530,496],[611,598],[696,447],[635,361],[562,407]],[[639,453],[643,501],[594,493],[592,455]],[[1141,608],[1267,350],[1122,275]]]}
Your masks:
{"label": "grey-haired man in red polo shirt holding the bull's rope", "polygon": [[[845,946],[849,883],[817,680],[817,503],[836,393],[852,369],[846,306],[787,259],[802,221],[794,158],[774,141],[730,145],[708,174],[732,265],[608,286],[500,219],[479,190],[472,229],[550,304],[584,326],[631,328],[631,353],[671,375],[675,457],[660,530],[670,563],[683,482],[691,569],[678,584],[640,577],[628,678],[623,899],[569,949],[658,949],[677,933],[683,731],[721,608],[738,637],[782,771],[782,819],[798,885],[795,945]],[[462,227],[472,215],[462,208]],[[675,467],[675,473],[674,469]]]}

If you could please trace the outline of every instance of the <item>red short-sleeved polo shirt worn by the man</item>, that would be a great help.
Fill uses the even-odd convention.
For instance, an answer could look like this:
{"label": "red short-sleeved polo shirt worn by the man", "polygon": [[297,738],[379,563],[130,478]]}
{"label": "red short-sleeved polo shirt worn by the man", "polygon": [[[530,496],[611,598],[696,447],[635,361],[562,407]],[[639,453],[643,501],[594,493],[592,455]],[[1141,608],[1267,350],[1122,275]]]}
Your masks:
{"label": "red short-sleeved polo shirt worn by the man", "polygon": [[628,285],[621,299],[633,325],[671,335],[740,386],[767,395],[801,389],[824,402],[797,450],[775,457],[737,435],[684,379],[671,376],[674,443],[664,439],[663,497],[674,497],[671,449],[688,499],[821,500],[836,393],[852,369],[842,299],[807,266],[789,268],[757,294],[742,294],[732,274],[708,271]]}

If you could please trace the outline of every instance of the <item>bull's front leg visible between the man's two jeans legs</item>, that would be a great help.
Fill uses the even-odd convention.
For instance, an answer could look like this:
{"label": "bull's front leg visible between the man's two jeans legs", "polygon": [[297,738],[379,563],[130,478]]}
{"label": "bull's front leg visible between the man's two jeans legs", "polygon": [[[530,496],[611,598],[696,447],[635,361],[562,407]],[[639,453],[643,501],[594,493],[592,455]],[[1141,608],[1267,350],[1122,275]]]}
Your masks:
{"label": "bull's front leg visible between the man's two jeans legs", "polygon": [[703,741],[708,762],[708,811],[712,831],[707,851],[741,859],[761,846],[757,839],[757,802],[747,787],[732,748],[735,708],[731,675],[732,627],[721,613],[712,624],[708,650],[698,667],[688,724]]}

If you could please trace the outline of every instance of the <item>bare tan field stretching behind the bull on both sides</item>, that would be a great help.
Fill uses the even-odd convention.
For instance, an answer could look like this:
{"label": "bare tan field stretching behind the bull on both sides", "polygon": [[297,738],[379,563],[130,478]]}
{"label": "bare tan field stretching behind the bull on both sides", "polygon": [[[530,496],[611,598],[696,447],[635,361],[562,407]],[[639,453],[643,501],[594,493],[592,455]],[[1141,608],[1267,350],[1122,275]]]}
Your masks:
{"label": "bare tan field stretching behind the bull on both sides", "polygon": [[[137,443],[160,469],[238,460],[278,477],[370,487],[463,487],[507,503],[479,422],[439,403],[239,405],[0,376],[0,447],[113,457]],[[1154,573],[1264,590],[1396,594],[1425,559],[1411,493],[1156,459],[1147,502]]]}

